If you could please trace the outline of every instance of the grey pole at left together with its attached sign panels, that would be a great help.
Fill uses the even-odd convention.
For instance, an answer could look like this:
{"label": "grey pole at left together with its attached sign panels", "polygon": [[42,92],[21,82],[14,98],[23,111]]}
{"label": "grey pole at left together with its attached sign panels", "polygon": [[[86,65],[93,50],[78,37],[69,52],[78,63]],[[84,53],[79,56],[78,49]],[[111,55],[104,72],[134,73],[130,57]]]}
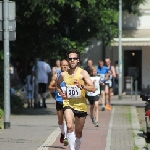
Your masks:
{"label": "grey pole at left together with its attached sign panels", "polygon": [[16,30],[15,10],[15,2],[0,2],[0,40],[4,41],[4,129],[10,128],[9,41],[16,39],[10,36]]}

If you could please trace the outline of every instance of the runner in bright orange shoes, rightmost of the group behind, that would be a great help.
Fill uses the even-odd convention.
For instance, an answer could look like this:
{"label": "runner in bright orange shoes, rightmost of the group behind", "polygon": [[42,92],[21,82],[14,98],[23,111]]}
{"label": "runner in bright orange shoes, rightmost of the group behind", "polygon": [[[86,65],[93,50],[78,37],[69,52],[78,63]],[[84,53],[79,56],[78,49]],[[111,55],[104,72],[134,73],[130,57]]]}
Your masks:
{"label": "runner in bright orange shoes, rightmost of the group behind", "polygon": [[105,63],[109,73],[109,79],[105,82],[106,107],[108,110],[111,110],[111,94],[113,92],[113,78],[116,78],[116,72],[114,66],[111,66],[110,58],[105,58]]}

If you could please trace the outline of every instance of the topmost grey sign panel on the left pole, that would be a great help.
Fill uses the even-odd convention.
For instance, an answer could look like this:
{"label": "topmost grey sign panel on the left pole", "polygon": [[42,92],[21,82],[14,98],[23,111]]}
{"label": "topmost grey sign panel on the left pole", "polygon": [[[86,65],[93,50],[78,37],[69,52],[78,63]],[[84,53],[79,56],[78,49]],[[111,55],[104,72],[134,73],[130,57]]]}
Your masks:
{"label": "topmost grey sign panel on the left pole", "polygon": [[[9,1],[9,20],[16,19],[16,3]],[[0,1],[0,20],[3,20],[3,2]]]}

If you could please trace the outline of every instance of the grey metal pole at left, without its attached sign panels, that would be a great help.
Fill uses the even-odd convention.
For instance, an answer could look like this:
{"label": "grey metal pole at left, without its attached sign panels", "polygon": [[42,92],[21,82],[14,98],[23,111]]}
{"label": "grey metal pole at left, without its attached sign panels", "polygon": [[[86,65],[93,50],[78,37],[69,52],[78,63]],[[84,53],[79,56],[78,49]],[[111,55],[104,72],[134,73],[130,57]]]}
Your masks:
{"label": "grey metal pole at left, without its attached sign panels", "polygon": [[8,0],[4,0],[4,129],[10,128],[9,20]]}

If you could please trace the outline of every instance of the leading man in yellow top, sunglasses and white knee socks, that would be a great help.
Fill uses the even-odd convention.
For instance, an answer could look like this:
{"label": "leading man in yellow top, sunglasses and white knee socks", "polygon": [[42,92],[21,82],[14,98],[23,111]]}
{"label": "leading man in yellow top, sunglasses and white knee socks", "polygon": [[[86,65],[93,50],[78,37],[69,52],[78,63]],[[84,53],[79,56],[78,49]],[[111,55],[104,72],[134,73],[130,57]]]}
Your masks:
{"label": "leading man in yellow top, sunglasses and white knee socks", "polygon": [[[69,62],[69,69],[61,73],[57,80],[57,90],[64,99],[63,108],[67,123],[67,136],[70,150],[79,150],[82,129],[87,116],[85,91],[95,92],[95,87],[87,71],[78,67],[80,61],[80,52],[78,50],[69,50],[67,52],[67,60]],[[66,92],[61,90],[60,83],[62,81],[66,84]]]}

